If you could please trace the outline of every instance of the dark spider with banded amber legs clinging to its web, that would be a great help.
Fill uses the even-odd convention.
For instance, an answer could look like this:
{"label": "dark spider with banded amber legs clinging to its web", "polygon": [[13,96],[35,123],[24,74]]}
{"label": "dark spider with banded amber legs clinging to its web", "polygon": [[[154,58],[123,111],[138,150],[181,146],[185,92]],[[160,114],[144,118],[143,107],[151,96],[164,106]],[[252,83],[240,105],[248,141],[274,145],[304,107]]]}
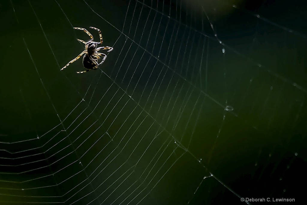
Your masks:
{"label": "dark spider with banded amber legs clinging to its web", "polygon": [[[69,61],[69,63],[67,65],[65,65],[61,70],[64,70],[68,65],[72,64],[73,62],[77,61],[82,55],[84,55],[83,57],[83,66],[86,70],[81,71],[81,72],[76,72],[76,73],[86,73],[90,70],[95,70],[98,68],[99,65],[103,64],[103,62],[106,60],[107,55],[104,53],[99,53],[98,51],[103,49],[103,50],[108,50],[107,52],[111,52],[113,50],[112,47],[109,46],[103,46],[103,47],[98,47],[97,45],[102,44],[103,39],[102,39],[102,35],[101,35],[101,31],[95,27],[90,27],[90,29],[95,29],[99,32],[99,37],[100,37],[100,42],[95,42],[94,38],[92,36],[92,34],[90,32],[88,32],[86,29],[84,28],[80,28],[80,27],[74,27],[74,29],[77,30],[83,30],[87,35],[89,35],[89,37],[91,37],[91,39],[87,42],[77,39],[79,42],[84,43],[85,44],[85,48],[84,51],[82,51],[82,53],[80,53],[80,55],[78,55],[76,58],[72,59],[71,61]],[[100,59],[100,57],[103,56],[103,59],[100,63],[98,63],[98,60]]]}

